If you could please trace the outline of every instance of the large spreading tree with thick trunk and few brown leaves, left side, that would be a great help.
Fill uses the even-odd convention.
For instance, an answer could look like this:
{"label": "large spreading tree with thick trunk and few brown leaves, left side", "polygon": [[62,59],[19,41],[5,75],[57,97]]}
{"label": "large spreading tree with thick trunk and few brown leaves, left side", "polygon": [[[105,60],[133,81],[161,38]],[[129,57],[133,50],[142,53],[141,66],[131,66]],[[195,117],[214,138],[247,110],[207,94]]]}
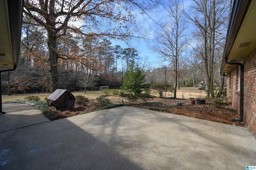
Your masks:
{"label": "large spreading tree with thick trunk and few brown leaves, left side", "polygon": [[[142,4],[146,3],[148,4]],[[57,40],[68,32],[83,36],[108,36],[125,38],[132,36],[135,18],[131,9],[136,6],[145,13],[153,1],[140,0],[25,0],[24,14],[34,25],[47,31],[48,65],[51,91],[57,89],[58,59],[72,59],[59,55]],[[72,24],[72,22],[83,24]]]}

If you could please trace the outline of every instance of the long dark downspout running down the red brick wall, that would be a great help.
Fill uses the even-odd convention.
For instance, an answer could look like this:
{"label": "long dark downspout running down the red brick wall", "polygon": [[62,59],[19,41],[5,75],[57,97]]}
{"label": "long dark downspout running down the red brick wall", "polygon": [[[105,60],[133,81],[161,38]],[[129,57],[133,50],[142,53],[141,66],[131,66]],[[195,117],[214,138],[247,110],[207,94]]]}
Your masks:
{"label": "long dark downspout running down the red brick wall", "polygon": [[240,66],[240,102],[239,102],[239,119],[233,119],[235,121],[244,120],[244,65],[242,63],[232,63],[228,62],[228,59],[225,57],[225,63],[230,65],[239,65]]}

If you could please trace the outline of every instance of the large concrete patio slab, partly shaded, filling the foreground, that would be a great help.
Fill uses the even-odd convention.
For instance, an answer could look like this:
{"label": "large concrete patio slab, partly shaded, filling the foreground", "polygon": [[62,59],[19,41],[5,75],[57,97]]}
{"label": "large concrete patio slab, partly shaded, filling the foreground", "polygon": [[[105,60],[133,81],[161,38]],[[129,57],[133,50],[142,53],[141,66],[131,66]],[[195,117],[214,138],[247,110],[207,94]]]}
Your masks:
{"label": "large concrete patio slab, partly shaded, filling the foreground", "polygon": [[4,170],[246,166],[256,166],[256,139],[247,128],[132,107],[0,133],[0,169]]}

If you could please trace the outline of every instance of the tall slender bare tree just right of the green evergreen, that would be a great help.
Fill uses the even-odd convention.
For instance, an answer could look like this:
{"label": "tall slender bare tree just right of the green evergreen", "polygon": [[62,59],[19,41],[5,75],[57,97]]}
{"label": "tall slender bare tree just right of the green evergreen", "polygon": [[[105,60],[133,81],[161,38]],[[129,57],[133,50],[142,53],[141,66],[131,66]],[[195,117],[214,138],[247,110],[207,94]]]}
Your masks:
{"label": "tall slender bare tree just right of the green evergreen", "polygon": [[183,20],[184,9],[179,0],[171,0],[167,10],[167,22],[160,24],[156,45],[152,47],[152,50],[161,55],[162,61],[172,63],[172,71],[174,71],[174,98],[176,98],[179,58],[188,47],[186,23]]}

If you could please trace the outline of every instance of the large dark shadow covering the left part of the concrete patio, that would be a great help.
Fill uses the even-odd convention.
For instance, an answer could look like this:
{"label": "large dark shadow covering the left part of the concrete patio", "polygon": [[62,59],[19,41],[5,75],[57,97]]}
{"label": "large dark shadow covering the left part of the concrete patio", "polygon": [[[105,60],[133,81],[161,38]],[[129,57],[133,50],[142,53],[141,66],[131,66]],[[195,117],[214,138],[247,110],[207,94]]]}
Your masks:
{"label": "large dark shadow covering the left part of the concrete patio", "polygon": [[2,170],[141,169],[67,119],[0,133],[0,141]]}

